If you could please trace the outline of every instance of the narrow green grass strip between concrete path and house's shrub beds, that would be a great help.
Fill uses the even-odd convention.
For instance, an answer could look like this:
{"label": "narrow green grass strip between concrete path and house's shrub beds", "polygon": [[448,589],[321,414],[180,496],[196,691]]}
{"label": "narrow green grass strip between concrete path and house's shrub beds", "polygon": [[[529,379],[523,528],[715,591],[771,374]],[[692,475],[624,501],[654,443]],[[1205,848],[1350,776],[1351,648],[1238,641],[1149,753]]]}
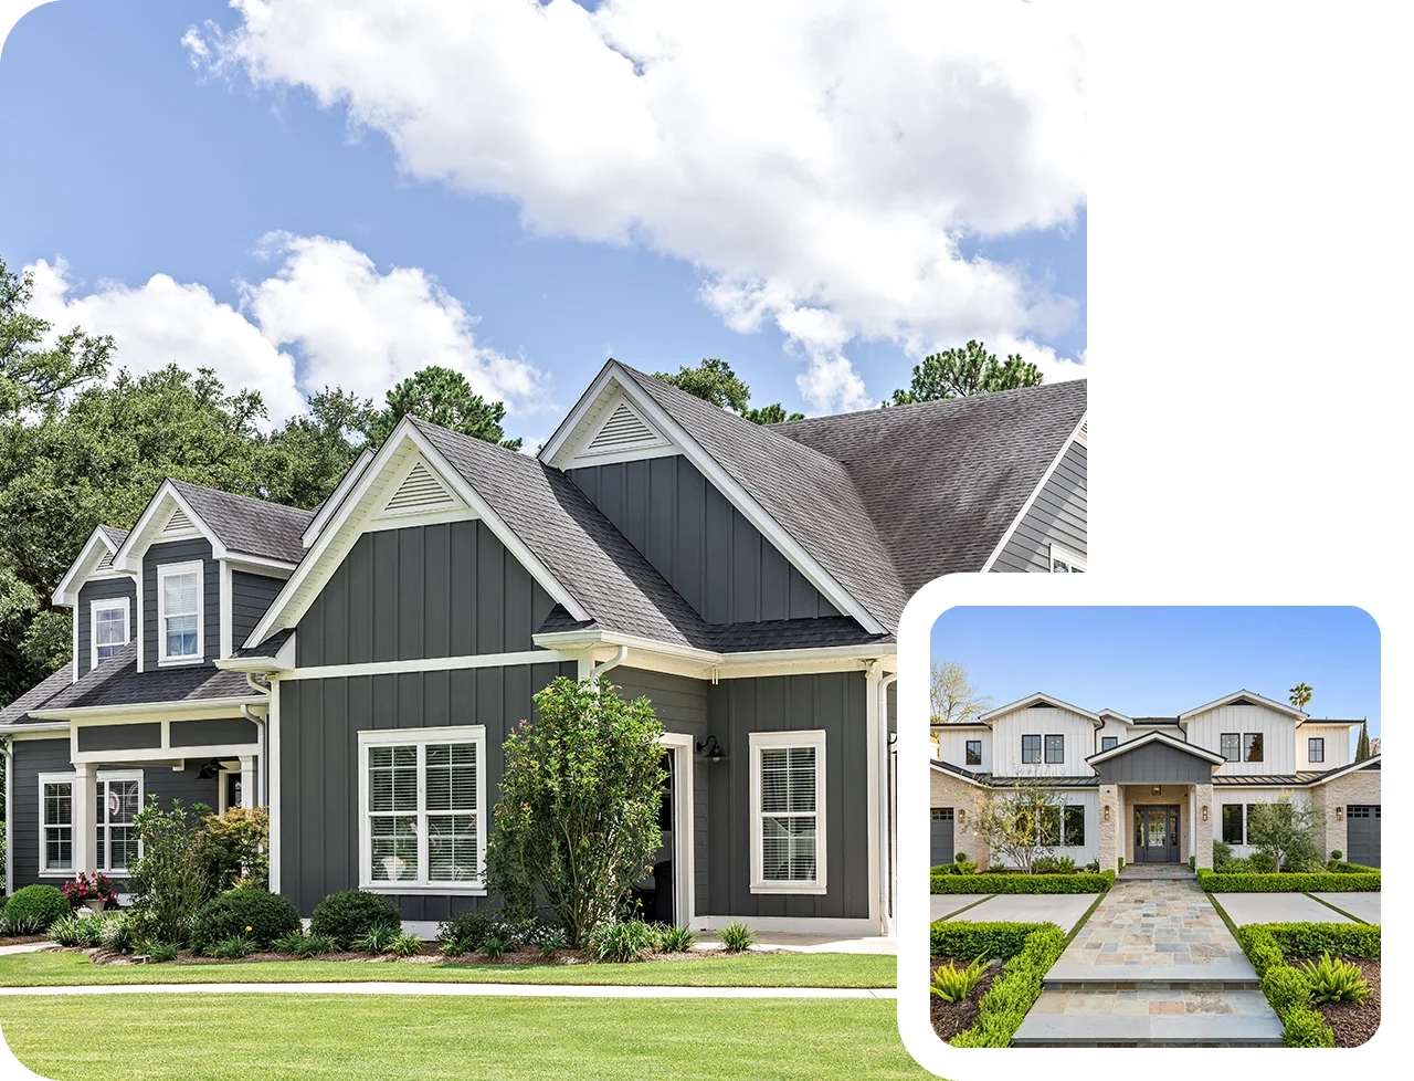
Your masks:
{"label": "narrow green grass strip between concrete path and house's shrub beds", "polygon": [[263,961],[247,965],[95,965],[83,954],[0,956],[0,986],[72,983],[633,983],[710,988],[892,988],[896,961],[874,954],[747,954],[631,965],[454,965]]}

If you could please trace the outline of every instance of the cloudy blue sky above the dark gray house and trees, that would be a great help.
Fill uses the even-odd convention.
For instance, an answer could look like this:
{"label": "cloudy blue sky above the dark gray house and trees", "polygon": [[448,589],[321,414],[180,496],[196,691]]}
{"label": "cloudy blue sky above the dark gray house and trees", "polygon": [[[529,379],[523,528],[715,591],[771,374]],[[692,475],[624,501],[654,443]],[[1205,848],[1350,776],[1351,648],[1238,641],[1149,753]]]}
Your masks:
{"label": "cloudy blue sky above the dark gray house and trees", "polygon": [[[556,0],[553,18],[522,25],[519,0],[478,0],[471,23],[465,4],[436,0],[402,28],[373,25],[382,6],[363,6],[349,0],[339,16],[276,0],[273,25],[256,30],[240,4],[209,0],[49,0],[21,16],[0,45],[0,96],[24,102],[6,117],[14,164],[0,173],[0,258],[13,269],[44,260],[40,314],[113,333],[120,362],[139,371],[211,364],[260,386],[277,415],[294,409],[294,388],[372,393],[427,358],[451,362],[505,398],[512,430],[530,440],[553,430],[611,354],[650,371],[723,357],[756,403],[809,413],[877,402],[906,383],[921,351],[973,334],[1024,348],[1048,374],[1083,372],[1066,362],[1086,357],[1083,91],[1065,71],[1069,98],[1032,85],[1035,65],[1007,47],[1007,25],[962,27],[963,45],[915,58],[936,102],[906,79],[872,85],[878,52],[905,50],[923,28],[898,14],[870,20],[874,52],[853,82],[847,58],[822,91],[817,58],[790,69],[741,52],[738,92],[762,96],[724,105],[694,71],[731,42],[674,23],[691,4],[575,16]],[[751,13],[720,10],[724,33]],[[366,41],[348,31],[358,14],[373,27]],[[807,4],[783,11],[776,33],[814,40],[813,17]],[[921,6],[911,17],[939,16]],[[1035,21],[1029,8],[1022,17]],[[344,33],[321,21],[335,18]],[[1083,31],[1063,23],[1044,30],[1069,41],[1083,76]],[[472,40],[444,48],[452,30]],[[652,68],[650,42],[676,33],[696,52],[660,65],[672,92],[641,93],[645,81],[605,65],[611,50],[636,48]],[[496,75],[485,48],[519,51],[515,69]],[[937,89],[981,67],[1003,71],[1014,126],[976,125]],[[543,75],[516,82],[536,68]],[[526,89],[561,71],[543,100]],[[397,96],[410,83],[411,103]],[[854,96],[796,147],[800,125],[772,103],[797,91],[806,116],[812,93]],[[571,115],[577,96],[584,116]],[[520,112],[496,126],[502,109]],[[390,112],[400,119],[379,119]],[[621,137],[641,113],[650,115],[642,139]],[[755,113],[759,130],[742,119]],[[602,132],[566,150],[594,123]],[[1069,125],[1079,149],[1028,143],[1042,125],[1052,136]],[[904,147],[896,163],[855,153],[851,140],[880,130]],[[911,157],[939,140],[956,154],[950,166]],[[635,156],[639,166],[622,166]],[[580,163],[585,175],[567,180]],[[781,192],[759,194],[781,175]],[[899,219],[943,207],[950,221],[935,233]],[[270,233],[284,239],[267,241],[262,259]],[[395,289],[393,267],[413,269],[411,283]],[[154,276],[170,279],[165,291],[147,289]],[[277,296],[269,283],[281,277],[293,284]],[[918,282],[926,287],[911,294]],[[704,297],[721,283],[731,289]],[[365,316],[416,333],[339,337]]]}

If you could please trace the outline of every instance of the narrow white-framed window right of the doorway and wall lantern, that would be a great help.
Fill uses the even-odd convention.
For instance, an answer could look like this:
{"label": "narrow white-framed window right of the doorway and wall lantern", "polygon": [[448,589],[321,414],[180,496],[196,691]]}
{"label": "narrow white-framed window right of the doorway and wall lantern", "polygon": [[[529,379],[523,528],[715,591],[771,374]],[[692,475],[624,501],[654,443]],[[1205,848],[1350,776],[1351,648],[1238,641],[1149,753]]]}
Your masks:
{"label": "narrow white-framed window right of the doorway and wall lantern", "polygon": [[751,891],[824,893],[824,732],[752,732]]}

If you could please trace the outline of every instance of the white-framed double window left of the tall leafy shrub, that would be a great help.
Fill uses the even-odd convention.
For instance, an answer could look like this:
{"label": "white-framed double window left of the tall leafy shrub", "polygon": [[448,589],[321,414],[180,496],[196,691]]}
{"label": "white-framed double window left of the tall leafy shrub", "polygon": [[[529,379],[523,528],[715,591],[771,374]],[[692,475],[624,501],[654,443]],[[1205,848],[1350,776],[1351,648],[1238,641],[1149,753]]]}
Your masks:
{"label": "white-framed double window left of the tall leafy shrub", "polygon": [[486,729],[361,732],[359,886],[485,893]]}

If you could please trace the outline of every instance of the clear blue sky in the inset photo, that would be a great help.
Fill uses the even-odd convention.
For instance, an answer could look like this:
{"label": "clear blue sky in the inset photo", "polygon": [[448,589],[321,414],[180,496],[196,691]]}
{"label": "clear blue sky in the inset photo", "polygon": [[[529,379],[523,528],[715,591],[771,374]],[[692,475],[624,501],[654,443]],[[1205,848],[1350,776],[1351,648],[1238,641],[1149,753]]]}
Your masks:
{"label": "clear blue sky in the inset photo", "polygon": [[1380,734],[1380,631],[1353,607],[960,607],[933,624],[933,661],[963,665],[993,706],[1044,690],[1090,710],[1178,716],[1233,690],[1369,717]]}

